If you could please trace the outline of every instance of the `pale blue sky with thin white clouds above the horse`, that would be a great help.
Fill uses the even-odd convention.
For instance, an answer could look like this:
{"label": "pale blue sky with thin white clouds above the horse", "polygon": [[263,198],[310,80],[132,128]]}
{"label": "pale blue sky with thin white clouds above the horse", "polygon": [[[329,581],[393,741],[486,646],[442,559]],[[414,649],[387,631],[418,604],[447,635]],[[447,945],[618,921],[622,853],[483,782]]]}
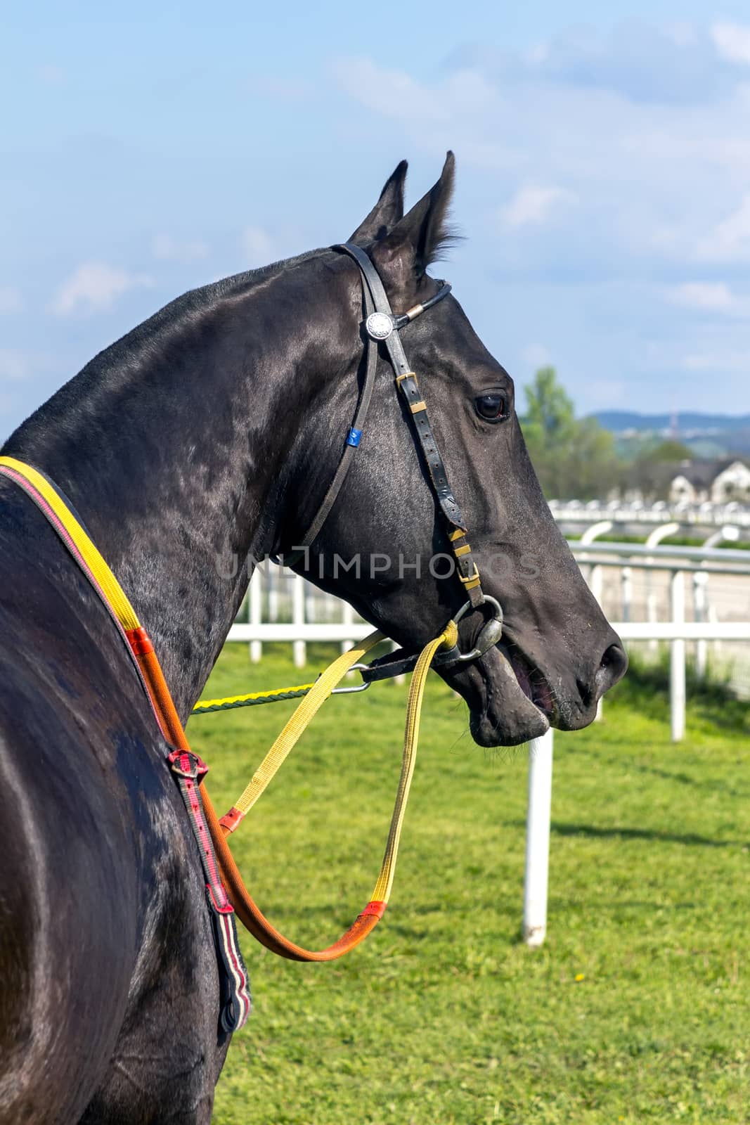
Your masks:
{"label": "pale blue sky with thin white clouds above the horse", "polygon": [[0,436],[172,297],[458,160],[441,264],[521,385],[750,412],[750,9],[16,4],[0,25]]}

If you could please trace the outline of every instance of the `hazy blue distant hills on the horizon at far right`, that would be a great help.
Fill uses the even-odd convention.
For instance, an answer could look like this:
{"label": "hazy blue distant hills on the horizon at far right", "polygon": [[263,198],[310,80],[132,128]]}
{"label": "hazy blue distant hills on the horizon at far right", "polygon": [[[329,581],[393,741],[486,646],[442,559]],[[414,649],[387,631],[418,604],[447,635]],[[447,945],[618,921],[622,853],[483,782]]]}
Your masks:
{"label": "hazy blue distant hills on the horizon at far right", "polygon": [[722,457],[750,453],[750,414],[636,414],[634,411],[598,411],[599,425],[616,434],[617,447],[652,434],[677,438],[696,457]]}

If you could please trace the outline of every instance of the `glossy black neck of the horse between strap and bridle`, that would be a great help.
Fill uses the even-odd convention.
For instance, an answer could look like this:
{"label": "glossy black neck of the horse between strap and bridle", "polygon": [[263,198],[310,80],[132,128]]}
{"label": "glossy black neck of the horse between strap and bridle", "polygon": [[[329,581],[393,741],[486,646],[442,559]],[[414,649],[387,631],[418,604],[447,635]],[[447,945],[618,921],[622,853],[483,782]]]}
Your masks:
{"label": "glossy black neck of the horse between strap and bridle", "polygon": [[[347,317],[319,333],[332,300],[352,305],[341,270],[310,258],[233,280],[180,298],[102,352],[3,450],[70,497],[151,634],[183,719],[253,559],[283,534],[289,450],[305,444],[310,404],[326,399],[332,368],[355,363],[343,354]],[[322,480],[334,467],[319,466]]]}

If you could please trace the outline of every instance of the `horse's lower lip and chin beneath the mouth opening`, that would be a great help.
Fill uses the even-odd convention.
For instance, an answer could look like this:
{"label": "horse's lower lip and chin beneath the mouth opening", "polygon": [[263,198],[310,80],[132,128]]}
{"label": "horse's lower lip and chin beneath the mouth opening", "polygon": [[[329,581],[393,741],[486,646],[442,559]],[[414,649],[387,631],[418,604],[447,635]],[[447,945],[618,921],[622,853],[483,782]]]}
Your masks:
{"label": "horse's lower lip and chin beneath the mouth opening", "polygon": [[546,714],[525,694],[500,648],[446,669],[443,678],[466,700],[471,737],[478,746],[517,746],[549,729]]}

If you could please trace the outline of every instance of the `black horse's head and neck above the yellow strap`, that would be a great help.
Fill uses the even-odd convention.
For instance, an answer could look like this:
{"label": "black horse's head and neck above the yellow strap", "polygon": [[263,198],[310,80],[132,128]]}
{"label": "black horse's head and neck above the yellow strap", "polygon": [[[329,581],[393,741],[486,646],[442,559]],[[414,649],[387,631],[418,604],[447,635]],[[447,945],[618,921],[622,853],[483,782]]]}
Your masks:
{"label": "black horse's head and neck above the yellow strap", "polygon": [[[405,215],[400,163],[350,243],[367,253],[390,308],[412,310],[399,339],[460,507],[454,530],[468,529],[481,588],[503,606],[497,645],[440,666],[469,704],[475,739],[494,746],[550,722],[590,722],[626,658],[544,502],[510,376],[428,272],[451,241],[453,176],[449,153]],[[419,404],[396,389],[389,341],[373,356],[363,292],[351,246],[188,292],[91,360],[7,443],[84,513],[148,623],[183,716],[242,602],[249,568],[238,560],[293,552],[325,507],[369,358],[377,366],[361,440],[296,569],[409,654],[471,593],[452,567],[427,446],[415,440]],[[486,609],[464,612],[462,654]]]}

